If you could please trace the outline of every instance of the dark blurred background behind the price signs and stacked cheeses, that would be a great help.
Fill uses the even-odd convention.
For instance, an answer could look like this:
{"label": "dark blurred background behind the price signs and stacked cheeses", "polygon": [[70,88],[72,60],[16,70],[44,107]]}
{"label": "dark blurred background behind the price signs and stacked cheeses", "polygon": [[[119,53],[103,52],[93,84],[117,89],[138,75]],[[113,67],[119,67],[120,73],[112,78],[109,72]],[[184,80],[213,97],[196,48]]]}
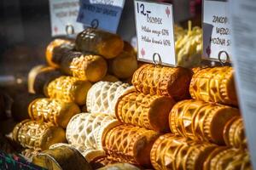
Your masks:
{"label": "dark blurred background behind the price signs and stacked cheeses", "polygon": [[[166,0],[172,3],[175,21],[201,26],[201,0]],[[133,1],[126,0],[118,33],[126,41],[135,37]],[[44,64],[51,41],[48,0],[0,1],[0,89],[9,94],[26,90],[26,77],[34,65]]]}

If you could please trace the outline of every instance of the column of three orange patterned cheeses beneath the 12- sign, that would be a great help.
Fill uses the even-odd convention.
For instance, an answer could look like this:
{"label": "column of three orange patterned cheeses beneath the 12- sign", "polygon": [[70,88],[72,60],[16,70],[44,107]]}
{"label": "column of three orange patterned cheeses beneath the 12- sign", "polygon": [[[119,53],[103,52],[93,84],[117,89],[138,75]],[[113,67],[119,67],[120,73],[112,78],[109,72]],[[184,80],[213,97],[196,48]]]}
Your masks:
{"label": "column of three orange patterned cheeses beneath the 12- sign", "polygon": [[169,113],[175,100],[189,98],[191,77],[188,69],[141,66],[132,78],[134,89],[121,95],[115,105],[121,124],[102,139],[108,160],[151,167],[154,141],[170,132]]}

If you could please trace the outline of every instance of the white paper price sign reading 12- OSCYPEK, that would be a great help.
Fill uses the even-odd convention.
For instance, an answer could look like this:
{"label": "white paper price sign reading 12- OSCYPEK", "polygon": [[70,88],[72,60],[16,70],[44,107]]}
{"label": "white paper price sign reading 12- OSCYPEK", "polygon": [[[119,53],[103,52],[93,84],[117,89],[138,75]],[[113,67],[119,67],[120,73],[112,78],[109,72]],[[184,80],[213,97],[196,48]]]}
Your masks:
{"label": "white paper price sign reading 12- OSCYPEK", "polygon": [[172,4],[135,0],[134,7],[138,60],[176,65]]}

